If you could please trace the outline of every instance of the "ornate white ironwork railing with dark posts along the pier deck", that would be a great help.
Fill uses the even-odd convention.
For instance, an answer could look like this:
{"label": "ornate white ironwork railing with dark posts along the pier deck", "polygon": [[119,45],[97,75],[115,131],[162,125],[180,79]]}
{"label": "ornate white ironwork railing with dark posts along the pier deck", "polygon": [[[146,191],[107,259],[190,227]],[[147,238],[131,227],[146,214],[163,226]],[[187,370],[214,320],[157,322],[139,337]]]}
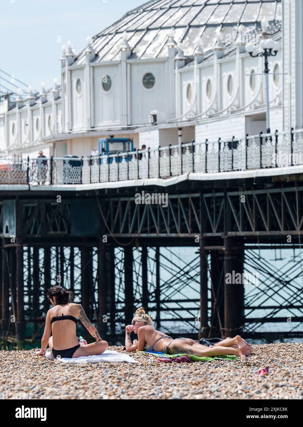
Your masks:
{"label": "ornate white ironwork railing with dark posts along the pier deck", "polygon": [[303,165],[303,129],[82,158],[0,158],[0,184],[89,184]]}

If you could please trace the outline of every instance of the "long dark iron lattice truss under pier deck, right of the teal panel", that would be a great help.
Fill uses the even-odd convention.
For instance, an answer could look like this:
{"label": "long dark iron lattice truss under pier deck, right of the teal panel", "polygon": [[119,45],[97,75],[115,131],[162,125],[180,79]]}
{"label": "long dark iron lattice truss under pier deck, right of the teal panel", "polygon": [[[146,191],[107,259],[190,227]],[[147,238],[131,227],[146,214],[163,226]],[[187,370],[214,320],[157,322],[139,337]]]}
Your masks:
{"label": "long dark iron lattice truss under pier deck, right of the teal panel", "polygon": [[168,195],[168,206],[102,200],[108,234],[118,237],[280,236],[302,234],[303,187]]}

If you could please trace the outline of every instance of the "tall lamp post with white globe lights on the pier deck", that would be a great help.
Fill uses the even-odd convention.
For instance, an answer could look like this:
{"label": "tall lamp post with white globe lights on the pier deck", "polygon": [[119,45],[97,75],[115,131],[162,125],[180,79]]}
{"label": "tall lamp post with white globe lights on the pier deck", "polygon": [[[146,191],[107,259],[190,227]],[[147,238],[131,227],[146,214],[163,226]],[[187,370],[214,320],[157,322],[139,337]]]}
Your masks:
{"label": "tall lamp post with white globe lights on the pier deck", "polygon": [[280,44],[277,41],[274,41],[270,38],[270,34],[268,33],[268,20],[263,18],[261,21],[262,26],[262,38],[259,43],[259,46],[255,46],[252,43],[248,43],[245,46],[246,52],[250,54],[251,57],[256,58],[257,56],[264,56],[265,68],[263,73],[265,73],[265,96],[266,96],[266,132],[270,133],[270,125],[269,125],[269,83],[268,83],[268,58],[270,56],[276,56],[278,50],[280,49]]}

